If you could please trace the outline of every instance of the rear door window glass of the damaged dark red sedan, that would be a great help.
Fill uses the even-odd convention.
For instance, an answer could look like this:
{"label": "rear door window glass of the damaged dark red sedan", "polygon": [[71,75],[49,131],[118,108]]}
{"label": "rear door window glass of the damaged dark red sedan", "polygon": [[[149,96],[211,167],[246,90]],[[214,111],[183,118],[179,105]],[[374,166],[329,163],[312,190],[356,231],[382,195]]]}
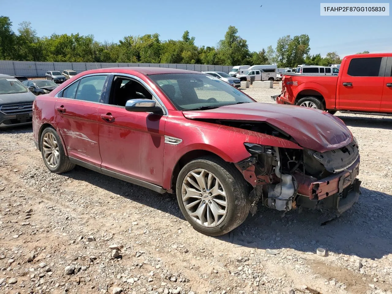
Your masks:
{"label": "rear door window glass of the damaged dark red sedan", "polygon": [[79,83],[78,91],[76,92],[76,99],[99,102],[105,80],[106,75],[82,78]]}

